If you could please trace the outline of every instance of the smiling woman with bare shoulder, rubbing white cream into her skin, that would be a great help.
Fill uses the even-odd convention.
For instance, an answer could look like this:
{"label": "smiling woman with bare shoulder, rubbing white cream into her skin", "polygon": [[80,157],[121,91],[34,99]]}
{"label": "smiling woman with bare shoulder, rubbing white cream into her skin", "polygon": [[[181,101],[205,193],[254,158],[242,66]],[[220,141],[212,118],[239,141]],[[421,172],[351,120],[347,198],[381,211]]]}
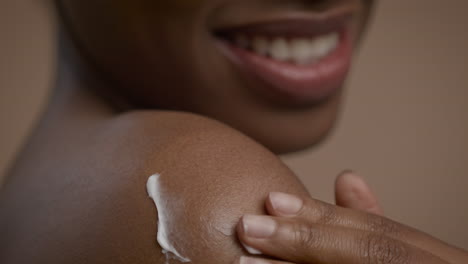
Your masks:
{"label": "smiling woman with bare shoulder, rubbing white cream into her skin", "polygon": [[330,131],[373,1],[57,5],[59,78],[2,193],[1,263],[468,261],[377,216],[352,173],[337,207],[272,154]]}

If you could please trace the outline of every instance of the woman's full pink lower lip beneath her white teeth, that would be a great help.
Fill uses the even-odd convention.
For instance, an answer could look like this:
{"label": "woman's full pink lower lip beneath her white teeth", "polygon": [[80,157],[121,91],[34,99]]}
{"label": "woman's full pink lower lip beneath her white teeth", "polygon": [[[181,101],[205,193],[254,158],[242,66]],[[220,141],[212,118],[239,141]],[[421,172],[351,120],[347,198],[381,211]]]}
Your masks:
{"label": "woman's full pink lower lip beneath her white teeth", "polygon": [[350,35],[348,29],[341,30],[337,48],[312,65],[279,62],[225,41],[221,47],[243,72],[264,83],[254,85],[257,91],[292,103],[319,103],[337,93],[346,79],[352,56]]}

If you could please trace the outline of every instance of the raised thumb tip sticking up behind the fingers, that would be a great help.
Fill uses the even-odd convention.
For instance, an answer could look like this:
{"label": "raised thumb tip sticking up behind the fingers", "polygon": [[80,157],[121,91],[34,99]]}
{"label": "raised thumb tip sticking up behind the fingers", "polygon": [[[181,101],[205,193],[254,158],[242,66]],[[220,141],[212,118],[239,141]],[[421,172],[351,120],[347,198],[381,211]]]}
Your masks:
{"label": "raised thumb tip sticking up behind the fingers", "polygon": [[336,205],[383,215],[376,196],[363,178],[352,171],[342,172],[335,181]]}

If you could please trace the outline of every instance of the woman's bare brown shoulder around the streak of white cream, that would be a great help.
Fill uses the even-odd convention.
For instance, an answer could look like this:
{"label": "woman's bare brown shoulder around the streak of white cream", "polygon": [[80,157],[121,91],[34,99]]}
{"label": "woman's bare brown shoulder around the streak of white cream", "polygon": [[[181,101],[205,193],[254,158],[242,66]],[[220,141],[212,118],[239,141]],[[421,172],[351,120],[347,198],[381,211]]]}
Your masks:
{"label": "woman's bare brown shoulder around the streak of white cream", "polygon": [[156,173],[182,212],[172,224],[192,263],[241,254],[234,226],[242,214],[262,212],[268,192],[306,193],[273,153],[193,114],[125,114],[90,141],[40,181],[5,187],[0,262],[164,263],[146,192]]}

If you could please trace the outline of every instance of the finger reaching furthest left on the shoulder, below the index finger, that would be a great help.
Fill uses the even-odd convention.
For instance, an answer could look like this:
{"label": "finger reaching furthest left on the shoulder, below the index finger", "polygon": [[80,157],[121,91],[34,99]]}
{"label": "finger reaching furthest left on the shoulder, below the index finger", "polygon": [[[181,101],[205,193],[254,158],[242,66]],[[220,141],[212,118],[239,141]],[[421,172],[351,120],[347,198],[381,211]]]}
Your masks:
{"label": "finger reaching furthest left on the shoulder, below the index finger", "polygon": [[237,232],[249,247],[293,263],[446,263],[383,234],[304,220],[244,216]]}

